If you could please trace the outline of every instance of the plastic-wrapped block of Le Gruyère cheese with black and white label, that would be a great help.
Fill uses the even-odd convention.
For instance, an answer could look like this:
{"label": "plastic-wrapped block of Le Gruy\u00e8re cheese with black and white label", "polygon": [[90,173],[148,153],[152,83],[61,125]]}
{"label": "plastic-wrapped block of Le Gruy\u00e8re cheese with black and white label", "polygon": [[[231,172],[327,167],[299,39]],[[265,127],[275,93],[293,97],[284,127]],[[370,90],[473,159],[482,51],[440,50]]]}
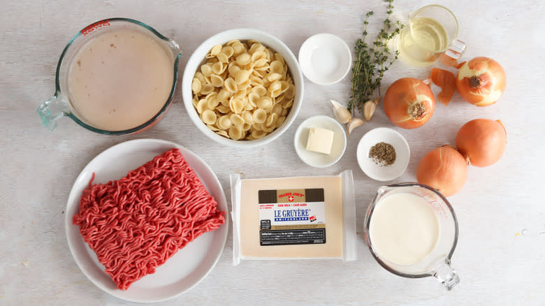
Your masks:
{"label": "plastic-wrapped block of Le Gruy\u00e8re cheese with black and white label", "polygon": [[253,259],[356,260],[352,171],[242,179],[231,175],[233,265]]}

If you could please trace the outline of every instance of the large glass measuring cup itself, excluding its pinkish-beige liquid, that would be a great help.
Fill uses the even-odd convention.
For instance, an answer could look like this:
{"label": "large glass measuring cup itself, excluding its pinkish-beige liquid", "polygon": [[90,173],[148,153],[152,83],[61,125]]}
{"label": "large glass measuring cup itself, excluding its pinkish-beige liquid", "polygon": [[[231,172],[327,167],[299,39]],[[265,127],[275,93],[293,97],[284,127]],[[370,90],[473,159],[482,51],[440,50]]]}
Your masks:
{"label": "large glass measuring cup itself, excluding its pinkish-beige liquid", "polygon": [[[168,94],[168,99],[164,101],[164,104],[162,104],[161,100],[162,107],[160,108],[160,110],[157,113],[155,112],[155,110],[153,110],[153,113],[155,115],[145,117],[145,119],[140,120],[138,124],[135,124],[136,126],[131,126],[131,128],[123,128],[121,130],[101,129],[100,127],[94,126],[93,124],[89,123],[89,120],[78,114],[78,110],[73,104],[74,101],[70,93],[71,91],[69,90],[70,82],[68,82],[68,74],[70,73],[71,66],[74,63],[75,57],[78,55],[78,52],[80,52],[82,48],[85,48],[85,45],[87,45],[89,41],[92,41],[94,38],[96,38],[96,36],[100,34],[122,28],[135,30],[138,31],[138,33],[149,36],[150,39],[157,42],[161,46],[161,48],[164,49],[168,57],[172,56],[171,59],[169,58],[169,61],[172,61],[173,63],[173,83],[171,87],[169,87],[170,94]],[[115,48],[115,46],[113,45],[112,47]],[[161,34],[159,34],[158,31],[148,26],[147,24],[144,24],[143,22],[127,18],[110,18],[106,20],[101,20],[99,22],[94,22],[93,24],[89,24],[89,26],[79,31],[78,34],[75,34],[75,36],[71,39],[68,45],[66,45],[66,48],[64,48],[59,59],[59,63],[57,64],[55,93],[48,101],[45,101],[40,105],[37,110],[38,115],[40,115],[43,125],[51,130],[54,130],[56,128],[57,120],[64,116],[70,117],[76,123],[80,124],[80,126],[83,126],[89,131],[108,135],[131,134],[144,131],[145,129],[149,129],[150,127],[154,126],[154,124],[157,124],[157,122],[162,119],[162,117],[170,108],[177,82],[178,61],[180,61],[181,56],[182,54],[180,51],[180,46],[175,41],[168,39],[165,36],[162,36]],[[168,75],[168,78],[170,78],[170,75]],[[138,85],[133,85],[133,88],[137,89]],[[115,108],[113,109],[113,111],[115,112]]]}

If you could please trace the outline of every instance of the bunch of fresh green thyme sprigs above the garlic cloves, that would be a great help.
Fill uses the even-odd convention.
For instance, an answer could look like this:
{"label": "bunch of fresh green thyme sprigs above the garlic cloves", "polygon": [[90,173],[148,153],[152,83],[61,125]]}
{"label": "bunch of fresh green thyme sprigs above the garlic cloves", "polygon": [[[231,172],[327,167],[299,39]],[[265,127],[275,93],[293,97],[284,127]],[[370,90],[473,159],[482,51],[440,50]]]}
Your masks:
{"label": "bunch of fresh green thyme sprigs above the garlic cloves", "polygon": [[380,96],[382,77],[393,62],[398,59],[399,52],[395,51],[393,58],[389,60],[392,54],[390,48],[388,48],[388,42],[400,33],[403,25],[399,21],[393,24],[390,20],[393,0],[384,0],[384,2],[388,3],[387,15],[384,20],[384,27],[377,34],[375,41],[371,45],[365,43],[369,17],[373,15],[373,12],[370,11],[365,14],[365,20],[363,21],[363,37],[358,39],[354,46],[356,59],[352,67],[352,90],[348,102],[348,109],[352,113],[354,113],[355,108],[358,108],[360,112],[363,111],[363,103],[372,99],[375,89],[378,89]]}

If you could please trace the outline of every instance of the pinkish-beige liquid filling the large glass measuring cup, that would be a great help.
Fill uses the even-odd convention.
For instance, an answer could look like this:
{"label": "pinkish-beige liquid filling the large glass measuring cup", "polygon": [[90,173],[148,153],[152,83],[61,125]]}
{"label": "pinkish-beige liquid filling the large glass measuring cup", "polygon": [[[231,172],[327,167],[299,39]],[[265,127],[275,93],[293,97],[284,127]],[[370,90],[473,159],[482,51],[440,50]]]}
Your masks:
{"label": "pinkish-beige liquid filling the large glass measuring cup", "polygon": [[122,28],[94,34],[68,71],[78,117],[97,129],[144,124],[163,108],[173,86],[174,59],[152,34]]}

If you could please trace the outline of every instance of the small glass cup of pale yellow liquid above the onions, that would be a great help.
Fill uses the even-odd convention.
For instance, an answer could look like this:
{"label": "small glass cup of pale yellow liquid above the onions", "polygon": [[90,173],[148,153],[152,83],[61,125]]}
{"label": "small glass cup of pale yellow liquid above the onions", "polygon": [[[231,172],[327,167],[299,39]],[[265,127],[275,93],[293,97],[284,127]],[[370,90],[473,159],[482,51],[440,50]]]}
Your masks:
{"label": "small glass cup of pale yellow liquid above the onions", "polygon": [[458,20],[444,6],[424,6],[409,14],[409,24],[398,37],[396,48],[405,63],[426,67],[442,54],[458,59],[465,43],[458,41]]}

